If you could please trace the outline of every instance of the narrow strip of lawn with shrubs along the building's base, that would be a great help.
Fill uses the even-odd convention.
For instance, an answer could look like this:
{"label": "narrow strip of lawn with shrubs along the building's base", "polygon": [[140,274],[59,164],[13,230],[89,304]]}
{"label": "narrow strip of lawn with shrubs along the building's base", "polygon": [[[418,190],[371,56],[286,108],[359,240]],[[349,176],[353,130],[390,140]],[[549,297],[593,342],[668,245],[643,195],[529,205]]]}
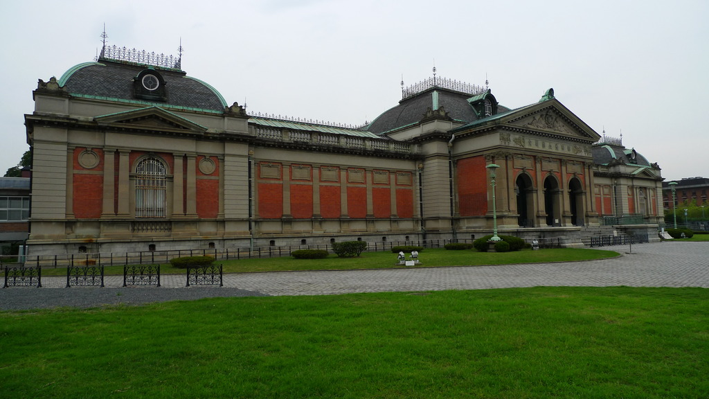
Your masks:
{"label": "narrow strip of lawn with shrubs along the building's base", "polygon": [[[421,251],[420,266],[480,266],[513,263],[590,261],[593,259],[618,256],[617,252],[590,248],[556,248],[540,251],[524,250],[505,253],[476,251],[447,251],[429,248]],[[282,270],[346,270],[365,268],[402,268],[396,266],[396,254],[386,252],[363,252],[359,258],[337,258],[330,255],[325,259],[253,258],[217,261],[223,264],[224,273],[246,273]],[[43,268],[43,275],[66,275],[66,268]],[[106,266],[106,274],[123,274],[123,266]],[[160,273],[185,273],[184,269],[173,268],[169,263],[160,266]]]}

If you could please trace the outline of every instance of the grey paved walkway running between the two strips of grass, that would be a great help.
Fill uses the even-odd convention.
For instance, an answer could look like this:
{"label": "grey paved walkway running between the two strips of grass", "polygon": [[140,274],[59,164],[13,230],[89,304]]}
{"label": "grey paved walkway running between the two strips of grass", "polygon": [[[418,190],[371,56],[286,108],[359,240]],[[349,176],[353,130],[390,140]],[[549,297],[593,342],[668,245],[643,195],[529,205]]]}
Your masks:
{"label": "grey paved walkway running between the two strips of grass", "polygon": [[[65,288],[66,278],[43,277],[43,288],[5,288],[0,290],[0,309],[30,297],[43,298],[46,306],[76,306],[71,300],[86,291],[106,297],[143,297],[144,300],[108,300],[144,303],[160,300],[195,299],[213,296],[249,295],[335,295],[428,290],[479,290],[546,286],[627,285],[632,287],[709,288],[709,243],[659,242],[628,246],[609,246],[622,253],[618,258],[586,262],[535,263],[502,266],[407,268],[389,270],[297,271],[275,273],[237,273],[224,275],[223,288],[204,286],[185,288],[185,275],[162,275],[160,288],[122,288],[123,276],[106,276],[106,288]],[[542,250],[543,251],[543,250]],[[56,289],[52,289],[56,288]],[[61,288],[61,290],[59,289]],[[167,294],[169,293],[169,295]],[[76,298],[74,298],[76,299]],[[115,298],[114,298],[115,299]],[[20,307],[22,308],[22,307]]]}

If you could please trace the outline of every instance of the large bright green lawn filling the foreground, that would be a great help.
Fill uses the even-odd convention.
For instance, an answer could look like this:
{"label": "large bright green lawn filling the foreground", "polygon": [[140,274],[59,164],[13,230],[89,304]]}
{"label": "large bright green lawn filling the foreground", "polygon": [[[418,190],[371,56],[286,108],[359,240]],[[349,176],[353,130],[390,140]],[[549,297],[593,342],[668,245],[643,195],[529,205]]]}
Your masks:
{"label": "large bright green lawn filling the foreground", "polygon": [[1,398],[707,398],[709,290],[0,312]]}

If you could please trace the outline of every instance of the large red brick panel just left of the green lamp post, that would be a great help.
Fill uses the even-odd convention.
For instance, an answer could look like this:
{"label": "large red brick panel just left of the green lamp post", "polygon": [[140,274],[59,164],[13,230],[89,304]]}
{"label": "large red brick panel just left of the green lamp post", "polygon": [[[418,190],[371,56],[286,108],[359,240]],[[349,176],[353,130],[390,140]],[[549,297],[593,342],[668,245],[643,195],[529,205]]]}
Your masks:
{"label": "large red brick panel just left of the green lamp post", "polygon": [[485,158],[474,157],[457,163],[458,207],[460,216],[484,216],[487,213],[487,171]]}

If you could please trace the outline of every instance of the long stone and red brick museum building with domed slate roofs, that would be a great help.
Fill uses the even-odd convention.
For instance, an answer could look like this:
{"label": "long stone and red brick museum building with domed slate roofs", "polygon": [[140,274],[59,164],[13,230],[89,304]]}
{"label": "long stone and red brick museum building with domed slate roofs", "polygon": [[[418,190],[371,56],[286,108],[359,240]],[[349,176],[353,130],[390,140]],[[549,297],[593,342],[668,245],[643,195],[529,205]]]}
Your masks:
{"label": "long stone and red brick museum building with domed slate roofs", "polygon": [[662,219],[659,166],[553,89],[510,109],[434,72],[355,128],[248,114],[180,58],[104,47],[33,98],[31,255],[469,240],[495,222],[580,246]]}

